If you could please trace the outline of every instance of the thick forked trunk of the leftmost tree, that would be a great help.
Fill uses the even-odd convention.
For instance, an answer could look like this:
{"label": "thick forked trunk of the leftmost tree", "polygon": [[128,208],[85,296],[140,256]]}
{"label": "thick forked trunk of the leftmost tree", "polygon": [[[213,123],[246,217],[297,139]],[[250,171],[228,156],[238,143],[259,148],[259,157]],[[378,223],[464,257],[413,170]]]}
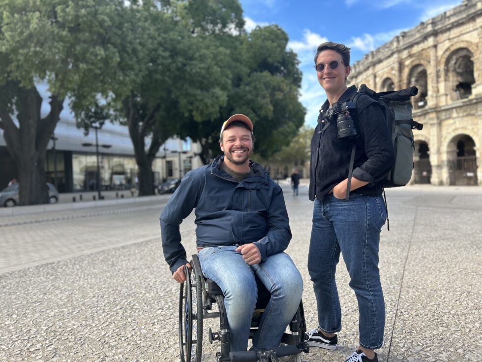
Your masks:
{"label": "thick forked trunk of the leftmost tree", "polygon": [[40,118],[42,98],[35,87],[25,89],[16,83],[16,108],[19,127],[8,112],[0,111],[1,126],[7,149],[17,166],[20,205],[49,202],[46,187],[45,159],[47,145],[59,121],[63,99],[51,97],[51,111]]}

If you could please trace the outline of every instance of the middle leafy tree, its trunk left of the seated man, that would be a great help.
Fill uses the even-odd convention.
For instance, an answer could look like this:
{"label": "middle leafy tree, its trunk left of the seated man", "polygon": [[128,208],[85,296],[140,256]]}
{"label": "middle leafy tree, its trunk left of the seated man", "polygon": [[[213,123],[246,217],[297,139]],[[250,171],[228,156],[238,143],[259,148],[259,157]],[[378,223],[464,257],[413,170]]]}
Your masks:
{"label": "middle leafy tree, its trunk left of the seated man", "polygon": [[151,167],[160,146],[184,134],[190,120],[219,117],[226,105],[229,53],[219,39],[233,37],[243,20],[236,0],[144,2],[140,9],[149,27],[142,41],[145,66],[136,83],[113,91],[109,104],[132,139],[139,195],[152,195]]}

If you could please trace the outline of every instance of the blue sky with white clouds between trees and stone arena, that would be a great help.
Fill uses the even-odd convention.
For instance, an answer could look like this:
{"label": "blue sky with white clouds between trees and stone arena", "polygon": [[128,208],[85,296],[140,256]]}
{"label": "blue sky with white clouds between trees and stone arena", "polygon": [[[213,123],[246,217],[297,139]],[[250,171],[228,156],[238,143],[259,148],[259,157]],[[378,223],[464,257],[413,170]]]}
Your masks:
{"label": "blue sky with white clouds between trees and stone arena", "polygon": [[314,127],[325,92],[313,69],[316,47],[327,40],[348,45],[351,63],[364,54],[462,3],[462,0],[240,0],[245,28],[277,24],[288,33],[303,72],[301,103],[305,124]]}

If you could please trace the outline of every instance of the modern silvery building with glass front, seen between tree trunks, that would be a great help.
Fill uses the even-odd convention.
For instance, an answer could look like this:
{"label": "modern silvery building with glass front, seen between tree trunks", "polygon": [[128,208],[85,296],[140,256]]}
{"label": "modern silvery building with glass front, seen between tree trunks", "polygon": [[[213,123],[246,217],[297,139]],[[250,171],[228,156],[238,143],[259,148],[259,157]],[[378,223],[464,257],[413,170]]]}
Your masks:
{"label": "modern silvery building with glass front, seen between tree trunks", "polygon": [[[44,99],[41,116],[49,112],[49,94],[46,85],[37,89]],[[60,192],[95,191],[97,180],[96,139],[93,129],[89,135],[76,127],[67,101],[60,113],[60,121],[47,150],[47,181],[57,184]],[[136,186],[138,168],[134,148],[127,127],[106,122],[97,131],[100,182],[103,190],[130,189]],[[54,143],[55,142],[55,143]],[[161,146],[152,163],[155,183],[165,179],[181,178],[187,171],[202,165],[195,156],[200,146],[190,139],[169,139]],[[17,177],[16,165],[0,130],[0,189]],[[57,176],[57,177],[56,177]]]}

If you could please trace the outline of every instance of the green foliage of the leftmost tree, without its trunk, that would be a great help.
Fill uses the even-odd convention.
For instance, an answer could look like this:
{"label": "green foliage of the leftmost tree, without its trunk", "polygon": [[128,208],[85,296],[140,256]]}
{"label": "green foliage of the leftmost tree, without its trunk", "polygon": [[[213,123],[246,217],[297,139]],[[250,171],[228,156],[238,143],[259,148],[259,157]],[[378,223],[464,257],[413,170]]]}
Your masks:
{"label": "green foliage of the leftmost tree, without its trunk", "polygon": [[142,44],[129,30],[142,22],[132,22],[122,0],[2,0],[0,12],[1,84],[28,89],[45,80],[52,94],[68,96],[81,111],[137,76],[132,55]]}

